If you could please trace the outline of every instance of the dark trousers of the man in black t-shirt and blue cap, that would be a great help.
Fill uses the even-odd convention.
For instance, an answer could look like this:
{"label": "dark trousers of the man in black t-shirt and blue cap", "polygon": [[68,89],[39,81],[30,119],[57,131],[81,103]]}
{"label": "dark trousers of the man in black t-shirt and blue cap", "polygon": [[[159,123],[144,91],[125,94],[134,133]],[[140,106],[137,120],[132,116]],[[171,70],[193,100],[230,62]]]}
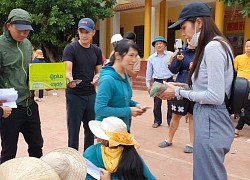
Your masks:
{"label": "dark trousers of the man in black t-shirt and blue cap", "polygon": [[81,122],[84,128],[84,151],[94,144],[94,135],[89,129],[89,121],[95,119],[95,97],[66,93],[68,147],[78,150]]}

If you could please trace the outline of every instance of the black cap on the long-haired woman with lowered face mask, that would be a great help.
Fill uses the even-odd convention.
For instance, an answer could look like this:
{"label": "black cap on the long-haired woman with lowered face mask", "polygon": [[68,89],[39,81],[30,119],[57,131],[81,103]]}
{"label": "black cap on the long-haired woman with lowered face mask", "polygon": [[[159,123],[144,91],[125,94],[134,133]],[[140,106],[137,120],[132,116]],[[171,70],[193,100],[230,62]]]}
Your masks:
{"label": "black cap on the long-haired woman with lowered face mask", "polygon": [[210,17],[210,16],[211,16],[211,8],[207,4],[200,2],[193,2],[183,7],[183,9],[179,14],[178,21],[169,26],[168,28],[179,30],[181,29],[180,24],[186,21],[188,18]]}

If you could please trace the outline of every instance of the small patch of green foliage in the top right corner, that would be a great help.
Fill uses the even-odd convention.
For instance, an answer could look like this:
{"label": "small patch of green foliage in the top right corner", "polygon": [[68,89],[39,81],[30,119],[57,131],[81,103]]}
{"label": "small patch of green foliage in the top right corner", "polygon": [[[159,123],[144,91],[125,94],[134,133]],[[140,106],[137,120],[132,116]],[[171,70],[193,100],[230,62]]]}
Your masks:
{"label": "small patch of green foliage in the top right corner", "polygon": [[250,18],[250,0],[221,0],[221,1],[223,1],[226,6],[242,7],[240,13],[243,14],[243,17],[247,16]]}

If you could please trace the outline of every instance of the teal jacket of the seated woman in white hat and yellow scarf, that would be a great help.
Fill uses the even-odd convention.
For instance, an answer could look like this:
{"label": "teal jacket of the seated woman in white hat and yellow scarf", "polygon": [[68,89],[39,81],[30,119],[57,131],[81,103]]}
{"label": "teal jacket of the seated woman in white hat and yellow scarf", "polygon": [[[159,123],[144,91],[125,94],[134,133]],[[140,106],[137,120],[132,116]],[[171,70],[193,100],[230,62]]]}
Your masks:
{"label": "teal jacket of the seated woman in white hat and yellow scarf", "polygon": [[[99,168],[105,169],[103,159],[102,159],[102,152],[101,152],[101,143],[95,144],[90,146],[83,154],[83,157],[91,161],[95,166]],[[150,170],[148,169],[147,165],[145,162],[142,160],[143,164],[143,175],[147,178],[147,180],[155,180],[156,178],[152,175]],[[87,174],[86,180],[93,180],[94,178]],[[111,174],[111,180],[118,180],[118,178],[114,175]]]}

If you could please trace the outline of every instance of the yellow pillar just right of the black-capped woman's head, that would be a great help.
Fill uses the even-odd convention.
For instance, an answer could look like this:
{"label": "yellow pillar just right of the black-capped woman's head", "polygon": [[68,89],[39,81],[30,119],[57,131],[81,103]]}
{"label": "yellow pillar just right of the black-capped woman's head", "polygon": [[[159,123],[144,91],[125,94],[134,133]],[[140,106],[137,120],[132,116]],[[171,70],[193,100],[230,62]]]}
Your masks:
{"label": "yellow pillar just right of the black-capped woman's head", "polygon": [[220,0],[216,0],[215,4],[215,24],[219,28],[220,32],[223,33],[224,27],[224,2]]}

